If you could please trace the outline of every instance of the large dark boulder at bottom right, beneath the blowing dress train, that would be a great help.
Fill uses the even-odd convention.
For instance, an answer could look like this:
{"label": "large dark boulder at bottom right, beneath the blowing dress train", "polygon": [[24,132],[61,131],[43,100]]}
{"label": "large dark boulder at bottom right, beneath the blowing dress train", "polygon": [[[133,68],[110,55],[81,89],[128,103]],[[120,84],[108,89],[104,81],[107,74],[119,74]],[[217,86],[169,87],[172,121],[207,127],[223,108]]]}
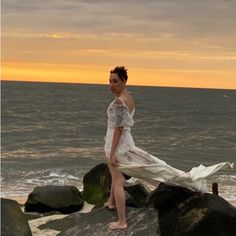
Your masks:
{"label": "large dark boulder at bottom right, beneath the blowing dress train", "polygon": [[214,194],[161,183],[148,206],[159,212],[162,236],[233,236],[236,208]]}

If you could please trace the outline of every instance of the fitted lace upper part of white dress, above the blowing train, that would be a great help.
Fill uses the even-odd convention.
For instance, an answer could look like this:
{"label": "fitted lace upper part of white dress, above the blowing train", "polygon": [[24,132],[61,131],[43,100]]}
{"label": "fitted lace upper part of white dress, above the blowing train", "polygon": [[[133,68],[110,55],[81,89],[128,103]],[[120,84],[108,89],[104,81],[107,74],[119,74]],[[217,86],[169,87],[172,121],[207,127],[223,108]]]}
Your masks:
{"label": "fitted lace upper part of white dress, above the blowing train", "polygon": [[123,127],[123,131],[115,154],[122,154],[135,146],[131,135],[131,127],[134,125],[134,114],[135,108],[130,112],[128,106],[120,98],[119,102],[117,99],[113,100],[108,106],[107,132],[104,146],[107,157],[109,157],[111,151],[113,134],[116,127]]}

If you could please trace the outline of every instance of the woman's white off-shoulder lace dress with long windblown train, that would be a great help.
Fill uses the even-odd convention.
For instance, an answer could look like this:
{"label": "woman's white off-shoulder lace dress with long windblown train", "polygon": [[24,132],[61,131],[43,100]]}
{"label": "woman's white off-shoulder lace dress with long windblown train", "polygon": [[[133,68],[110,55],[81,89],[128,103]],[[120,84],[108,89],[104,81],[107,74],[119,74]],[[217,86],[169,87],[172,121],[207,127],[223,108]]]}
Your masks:
{"label": "woman's white off-shoulder lace dress with long windblown train", "polygon": [[115,155],[118,162],[117,168],[133,177],[128,182],[141,182],[149,190],[154,189],[160,182],[165,182],[194,191],[207,192],[207,177],[220,169],[233,168],[233,163],[221,162],[208,167],[199,165],[189,172],[184,172],[136,147],[131,135],[135,109],[130,113],[127,105],[120,98],[119,100],[122,104],[114,100],[107,109],[108,121],[104,150],[106,157],[109,158],[114,130],[116,127],[124,127]]}

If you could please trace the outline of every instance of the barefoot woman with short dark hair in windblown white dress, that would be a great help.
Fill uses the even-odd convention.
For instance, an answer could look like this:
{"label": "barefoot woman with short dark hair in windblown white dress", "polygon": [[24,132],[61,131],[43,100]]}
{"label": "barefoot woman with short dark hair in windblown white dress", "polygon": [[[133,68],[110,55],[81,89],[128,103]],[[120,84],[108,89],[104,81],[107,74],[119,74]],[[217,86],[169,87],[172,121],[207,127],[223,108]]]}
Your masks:
{"label": "barefoot woman with short dark hair in windblown white dress", "polygon": [[110,197],[105,203],[105,207],[116,208],[119,220],[110,223],[110,229],[127,228],[125,179],[122,173],[142,179],[153,187],[156,187],[159,182],[165,182],[195,191],[207,192],[206,177],[219,169],[233,168],[233,163],[222,162],[209,167],[200,165],[186,173],[136,147],[131,135],[135,104],[126,88],[127,80],[128,75],[125,67],[116,67],[111,70],[110,89],[115,95],[115,99],[107,109],[108,122],[104,150],[108,159],[112,184]]}

